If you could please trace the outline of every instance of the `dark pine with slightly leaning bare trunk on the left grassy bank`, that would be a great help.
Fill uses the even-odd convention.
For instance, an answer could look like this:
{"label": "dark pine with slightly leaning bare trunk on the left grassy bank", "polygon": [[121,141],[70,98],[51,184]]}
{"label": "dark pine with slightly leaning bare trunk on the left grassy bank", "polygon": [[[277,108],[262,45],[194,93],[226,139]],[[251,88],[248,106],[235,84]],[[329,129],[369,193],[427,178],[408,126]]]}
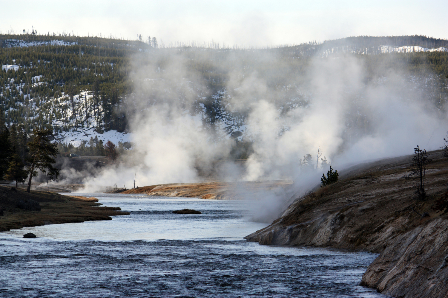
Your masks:
{"label": "dark pine with slightly leaning bare trunk on the left grassy bank", "polygon": [[47,174],[50,178],[59,176],[59,169],[54,168],[53,164],[56,160],[58,154],[57,144],[51,143],[48,137],[52,134],[49,129],[35,129],[33,131],[33,137],[30,142],[28,142],[28,147],[30,149],[30,154],[28,161],[30,163],[29,173],[30,179],[28,180],[28,188],[26,191],[29,193],[31,190],[31,179],[37,176],[37,171],[34,169],[39,169],[43,174]]}

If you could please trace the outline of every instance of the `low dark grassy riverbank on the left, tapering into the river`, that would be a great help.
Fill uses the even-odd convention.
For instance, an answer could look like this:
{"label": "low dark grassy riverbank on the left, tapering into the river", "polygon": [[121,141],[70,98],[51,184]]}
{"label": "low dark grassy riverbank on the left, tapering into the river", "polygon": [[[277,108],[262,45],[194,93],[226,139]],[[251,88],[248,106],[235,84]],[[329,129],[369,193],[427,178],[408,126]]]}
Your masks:
{"label": "low dark grassy riverbank on the left, tapering into the river", "polygon": [[47,224],[111,220],[110,215],[125,215],[117,207],[102,204],[94,197],[69,197],[59,193],[0,186],[0,231]]}

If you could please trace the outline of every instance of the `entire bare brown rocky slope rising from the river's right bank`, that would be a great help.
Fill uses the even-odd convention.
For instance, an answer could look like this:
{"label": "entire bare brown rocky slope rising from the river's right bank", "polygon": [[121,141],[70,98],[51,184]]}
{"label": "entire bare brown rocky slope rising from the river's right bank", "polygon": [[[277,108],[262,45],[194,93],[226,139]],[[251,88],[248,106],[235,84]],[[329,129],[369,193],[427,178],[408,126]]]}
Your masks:
{"label": "entire bare brown rocky slope rising from the river's right bank", "polygon": [[246,239],[377,252],[363,285],[396,297],[446,297],[447,240],[437,235],[446,233],[448,215],[431,206],[446,191],[448,159],[441,151],[431,158],[426,201],[414,200],[416,181],[402,178],[410,172],[412,155],[383,159],[342,171],[337,183],[297,198],[280,218]]}

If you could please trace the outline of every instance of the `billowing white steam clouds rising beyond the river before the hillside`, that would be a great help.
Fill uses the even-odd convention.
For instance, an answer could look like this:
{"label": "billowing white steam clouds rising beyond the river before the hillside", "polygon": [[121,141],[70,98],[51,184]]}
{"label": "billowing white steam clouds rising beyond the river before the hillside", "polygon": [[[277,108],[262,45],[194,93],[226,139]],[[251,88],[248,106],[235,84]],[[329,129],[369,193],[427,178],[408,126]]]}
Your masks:
{"label": "billowing white steam clouds rising beyond the river before the hillside", "polygon": [[[438,149],[446,135],[446,112],[427,92],[435,76],[411,75],[392,56],[289,61],[263,50],[186,48],[131,61],[132,161],[87,177],[86,191],[135,177],[138,186],[294,180],[304,192],[328,170],[318,148],[340,171],[417,145]],[[250,143],[243,165],[234,162],[237,142]]]}

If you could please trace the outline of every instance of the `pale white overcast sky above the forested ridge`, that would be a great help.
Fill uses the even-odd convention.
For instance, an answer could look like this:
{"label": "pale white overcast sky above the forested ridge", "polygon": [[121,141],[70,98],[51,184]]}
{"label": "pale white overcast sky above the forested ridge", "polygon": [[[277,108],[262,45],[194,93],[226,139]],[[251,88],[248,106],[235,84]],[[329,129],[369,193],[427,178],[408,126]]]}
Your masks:
{"label": "pale white overcast sky above the forested ridge", "polygon": [[155,36],[243,46],[299,44],[358,35],[448,39],[448,0],[0,0],[2,33]]}

